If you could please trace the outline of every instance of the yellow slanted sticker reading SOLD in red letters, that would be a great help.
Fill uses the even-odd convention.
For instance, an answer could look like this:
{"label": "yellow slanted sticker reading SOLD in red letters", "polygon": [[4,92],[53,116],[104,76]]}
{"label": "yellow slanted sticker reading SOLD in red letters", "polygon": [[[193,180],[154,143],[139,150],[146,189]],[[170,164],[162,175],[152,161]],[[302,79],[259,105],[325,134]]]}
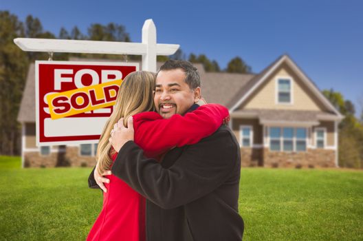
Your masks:
{"label": "yellow slanted sticker reading SOLD in red letters", "polygon": [[115,105],[122,80],[47,95],[52,120]]}

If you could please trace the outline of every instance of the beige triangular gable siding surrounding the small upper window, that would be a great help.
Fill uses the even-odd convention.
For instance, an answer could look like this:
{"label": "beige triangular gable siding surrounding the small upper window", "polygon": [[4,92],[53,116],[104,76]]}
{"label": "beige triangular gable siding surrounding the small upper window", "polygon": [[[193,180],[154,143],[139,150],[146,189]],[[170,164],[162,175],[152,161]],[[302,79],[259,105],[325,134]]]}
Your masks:
{"label": "beige triangular gable siding surrounding the small upper window", "polygon": [[[292,78],[292,104],[278,104],[276,78]],[[281,65],[265,83],[254,92],[240,109],[294,109],[325,111],[326,108],[311,93],[303,81],[285,64]]]}

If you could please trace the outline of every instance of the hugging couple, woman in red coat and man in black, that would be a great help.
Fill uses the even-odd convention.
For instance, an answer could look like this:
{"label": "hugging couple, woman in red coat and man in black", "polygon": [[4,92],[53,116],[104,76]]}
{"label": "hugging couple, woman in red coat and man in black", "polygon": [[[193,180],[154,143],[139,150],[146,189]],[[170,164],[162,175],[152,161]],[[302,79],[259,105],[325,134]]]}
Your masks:
{"label": "hugging couple, woman in red coat and man in black", "polygon": [[241,240],[241,158],[228,120],[225,107],[203,105],[188,61],[126,76],[89,176],[103,207],[87,240]]}

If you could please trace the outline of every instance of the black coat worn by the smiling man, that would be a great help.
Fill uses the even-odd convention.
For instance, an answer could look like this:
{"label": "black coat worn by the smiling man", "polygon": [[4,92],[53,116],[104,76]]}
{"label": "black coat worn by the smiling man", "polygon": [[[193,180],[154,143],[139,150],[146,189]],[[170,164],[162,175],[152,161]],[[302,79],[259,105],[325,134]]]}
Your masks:
{"label": "black coat worn by the smiling man", "polygon": [[129,141],[111,171],[146,197],[148,241],[212,241],[242,239],[240,168],[239,144],[223,125],[195,145],[168,151],[161,165]]}

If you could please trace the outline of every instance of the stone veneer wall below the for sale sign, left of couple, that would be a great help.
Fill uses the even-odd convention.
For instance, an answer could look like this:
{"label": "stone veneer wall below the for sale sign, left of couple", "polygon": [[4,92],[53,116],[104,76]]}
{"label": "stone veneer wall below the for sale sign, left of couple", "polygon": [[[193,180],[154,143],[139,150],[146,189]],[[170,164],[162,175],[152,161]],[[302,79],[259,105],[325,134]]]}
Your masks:
{"label": "stone veneer wall below the for sale sign, left of couple", "polygon": [[65,152],[51,152],[41,156],[38,151],[24,153],[25,167],[94,167],[95,156],[79,156],[78,147],[66,147]]}

